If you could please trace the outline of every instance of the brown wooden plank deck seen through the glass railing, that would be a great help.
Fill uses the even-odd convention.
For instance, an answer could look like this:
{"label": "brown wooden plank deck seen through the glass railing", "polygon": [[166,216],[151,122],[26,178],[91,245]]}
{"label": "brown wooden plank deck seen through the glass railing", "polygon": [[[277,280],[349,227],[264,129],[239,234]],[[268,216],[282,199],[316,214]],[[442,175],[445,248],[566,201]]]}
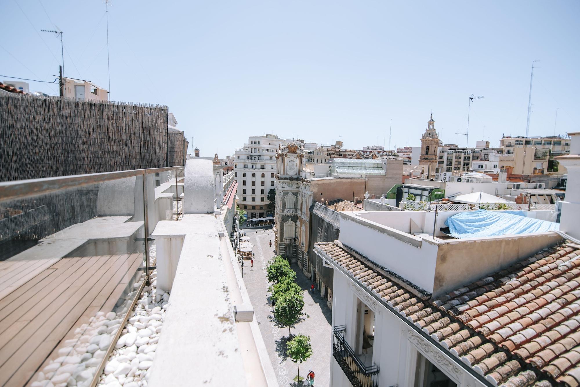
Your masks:
{"label": "brown wooden plank deck seen through the glass railing", "polygon": [[96,312],[110,312],[142,254],[0,262],[0,386],[24,386]]}

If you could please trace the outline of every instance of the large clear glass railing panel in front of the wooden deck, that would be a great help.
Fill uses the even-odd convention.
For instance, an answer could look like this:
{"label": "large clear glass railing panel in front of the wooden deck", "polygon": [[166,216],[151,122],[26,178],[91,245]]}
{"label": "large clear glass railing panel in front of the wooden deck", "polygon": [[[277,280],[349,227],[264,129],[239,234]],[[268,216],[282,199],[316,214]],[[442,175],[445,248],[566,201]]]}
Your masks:
{"label": "large clear glass railing panel in front of the wooden deck", "polygon": [[0,385],[99,377],[144,286],[143,198],[139,175],[0,201]]}

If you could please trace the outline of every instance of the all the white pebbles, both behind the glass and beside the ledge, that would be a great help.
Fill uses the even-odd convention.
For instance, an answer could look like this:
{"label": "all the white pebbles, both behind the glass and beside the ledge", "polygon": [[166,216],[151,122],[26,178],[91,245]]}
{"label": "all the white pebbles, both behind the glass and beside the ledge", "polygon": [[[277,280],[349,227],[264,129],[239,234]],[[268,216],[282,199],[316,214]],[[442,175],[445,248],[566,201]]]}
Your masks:
{"label": "all the white pebbles, both behind the glass and beside the ledge", "polygon": [[[142,279],[144,279],[144,274]],[[153,364],[157,341],[165,317],[169,294],[158,297],[156,273],[151,275],[151,286],[143,289],[135,309],[130,313],[129,322],[122,330],[121,337],[100,375],[98,386],[147,386],[147,373]],[[121,327],[121,321],[131,306],[132,297],[140,282],[133,286],[133,292],[115,312],[97,312],[75,330],[74,338],[64,341],[58,356],[50,360],[33,378],[31,387],[89,386],[99,367],[111,339]]]}

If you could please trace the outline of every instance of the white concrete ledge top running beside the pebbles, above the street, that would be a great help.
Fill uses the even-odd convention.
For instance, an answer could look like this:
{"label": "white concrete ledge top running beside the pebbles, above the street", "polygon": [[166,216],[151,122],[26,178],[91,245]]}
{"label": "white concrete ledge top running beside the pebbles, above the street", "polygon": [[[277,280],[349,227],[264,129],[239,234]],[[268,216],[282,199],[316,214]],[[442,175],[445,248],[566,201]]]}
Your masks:
{"label": "white concrete ledge top running beside the pebbles, above the street", "polygon": [[216,222],[211,214],[160,222],[185,236],[150,386],[247,385]]}

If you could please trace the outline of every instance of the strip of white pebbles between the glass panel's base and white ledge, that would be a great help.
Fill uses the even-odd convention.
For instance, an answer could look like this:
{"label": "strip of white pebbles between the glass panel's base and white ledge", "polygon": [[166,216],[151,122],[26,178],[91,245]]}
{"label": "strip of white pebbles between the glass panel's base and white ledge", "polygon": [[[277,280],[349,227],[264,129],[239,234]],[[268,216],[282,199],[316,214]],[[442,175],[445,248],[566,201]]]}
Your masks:
{"label": "strip of white pebbles between the glass panel's base and white ledge", "polygon": [[143,289],[97,386],[147,386],[169,301],[169,293],[157,294],[155,277],[153,273],[151,286]]}

